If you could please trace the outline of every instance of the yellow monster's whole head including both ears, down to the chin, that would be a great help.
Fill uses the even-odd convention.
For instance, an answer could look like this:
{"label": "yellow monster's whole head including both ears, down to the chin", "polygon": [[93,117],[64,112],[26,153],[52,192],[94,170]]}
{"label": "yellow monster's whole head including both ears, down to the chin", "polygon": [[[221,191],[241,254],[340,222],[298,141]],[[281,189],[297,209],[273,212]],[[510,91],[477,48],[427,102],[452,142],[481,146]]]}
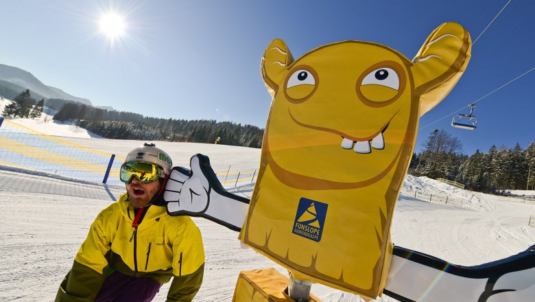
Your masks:
{"label": "yellow monster's whole head including both ears, down to the chin", "polygon": [[418,117],[460,78],[468,37],[460,25],[444,23],[416,64],[389,47],[353,40],[324,45],[293,62],[285,43],[274,40],[262,62],[274,96],[263,146],[274,174],[302,189],[379,181],[403,148],[414,147]]}

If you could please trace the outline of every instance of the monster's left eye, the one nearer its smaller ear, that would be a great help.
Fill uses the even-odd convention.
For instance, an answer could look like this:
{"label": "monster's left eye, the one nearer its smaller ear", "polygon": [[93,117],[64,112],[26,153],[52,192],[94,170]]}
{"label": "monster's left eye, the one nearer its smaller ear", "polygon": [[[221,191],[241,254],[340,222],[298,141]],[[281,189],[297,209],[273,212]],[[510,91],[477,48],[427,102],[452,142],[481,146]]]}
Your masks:
{"label": "monster's left eye, the one nearer its smaller ear", "polygon": [[318,88],[318,73],[308,65],[296,66],[287,76],[284,87],[289,102],[305,102]]}

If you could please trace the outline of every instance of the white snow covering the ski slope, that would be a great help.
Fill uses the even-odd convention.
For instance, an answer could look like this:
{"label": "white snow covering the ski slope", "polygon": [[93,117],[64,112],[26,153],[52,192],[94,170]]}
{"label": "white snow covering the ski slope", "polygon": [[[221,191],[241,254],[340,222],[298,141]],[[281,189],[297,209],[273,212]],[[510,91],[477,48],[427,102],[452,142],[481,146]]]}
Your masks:
{"label": "white snow covering the ski slope", "polygon": [[[3,108],[0,101],[0,110]],[[63,136],[88,148],[126,154],[140,141],[96,139],[91,132],[51,121],[12,119],[48,135]],[[69,138],[67,138],[69,137]],[[260,150],[200,143],[158,142],[175,165],[189,165],[195,153],[210,156],[215,170],[236,165],[258,167]],[[88,227],[100,210],[116,200],[123,187],[50,177],[0,166],[0,301],[52,301]],[[254,184],[232,189],[250,196]],[[437,204],[402,195],[392,222],[392,242],[463,266],[502,259],[535,244],[535,202],[491,196],[407,175],[404,189],[464,200],[462,207]],[[535,195],[534,191],[525,195]],[[241,248],[237,233],[209,220],[193,218],[206,251],[204,282],[195,301],[230,301],[241,270],[285,269],[252,249]],[[532,221],[532,225],[535,222]],[[165,301],[169,283],[154,301]],[[314,284],[323,301],[361,301],[347,292]],[[382,301],[394,301],[390,298]]]}

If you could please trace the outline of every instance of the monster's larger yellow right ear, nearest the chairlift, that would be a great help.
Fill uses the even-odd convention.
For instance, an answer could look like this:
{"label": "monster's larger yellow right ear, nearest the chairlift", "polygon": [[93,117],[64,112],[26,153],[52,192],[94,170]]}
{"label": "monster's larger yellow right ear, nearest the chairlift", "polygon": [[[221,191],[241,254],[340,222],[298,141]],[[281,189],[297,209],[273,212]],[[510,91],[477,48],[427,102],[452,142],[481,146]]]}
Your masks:
{"label": "monster's larger yellow right ear, nearest the chairlift", "polygon": [[468,65],[472,49],[470,34],[453,22],[434,30],[414,57],[411,67],[420,116],[436,106],[453,89]]}

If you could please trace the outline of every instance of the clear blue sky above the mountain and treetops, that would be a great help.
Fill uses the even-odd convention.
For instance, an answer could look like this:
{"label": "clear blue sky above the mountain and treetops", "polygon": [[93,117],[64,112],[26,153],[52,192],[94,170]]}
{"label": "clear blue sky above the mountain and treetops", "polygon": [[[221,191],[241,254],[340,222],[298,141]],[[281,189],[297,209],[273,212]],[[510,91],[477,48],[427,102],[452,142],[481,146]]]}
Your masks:
{"label": "clear blue sky above the mountain and treetops", "polygon": [[[285,40],[295,58],[340,40],[368,40],[412,59],[441,23],[460,23],[475,40],[506,3],[3,1],[0,63],[96,106],[263,128],[271,99],[260,60],[272,39]],[[99,31],[100,17],[110,10],[126,23],[113,43]],[[474,43],[457,86],[420,119],[417,152],[435,128],[458,137],[465,154],[493,144],[526,148],[535,140],[535,71],[477,102],[477,130],[450,126],[451,113],[535,67],[534,32],[535,1],[510,1]]]}

